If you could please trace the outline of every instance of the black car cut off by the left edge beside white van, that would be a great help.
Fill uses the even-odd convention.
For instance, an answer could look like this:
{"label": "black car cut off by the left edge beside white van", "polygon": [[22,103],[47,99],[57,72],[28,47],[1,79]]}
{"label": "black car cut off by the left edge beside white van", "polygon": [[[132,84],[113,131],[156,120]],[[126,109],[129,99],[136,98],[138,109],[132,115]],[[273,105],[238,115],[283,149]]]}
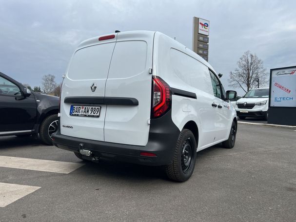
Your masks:
{"label": "black car cut off by the left edge beside white van", "polygon": [[59,97],[35,93],[0,72],[0,136],[38,135],[52,145],[58,126]]}

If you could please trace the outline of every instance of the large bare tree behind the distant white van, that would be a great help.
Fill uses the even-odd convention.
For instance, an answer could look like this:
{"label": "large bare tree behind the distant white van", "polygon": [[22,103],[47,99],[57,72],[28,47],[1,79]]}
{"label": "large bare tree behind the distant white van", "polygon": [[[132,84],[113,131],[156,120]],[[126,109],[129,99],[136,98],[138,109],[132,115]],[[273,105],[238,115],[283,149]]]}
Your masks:
{"label": "large bare tree behind the distant white van", "polygon": [[257,86],[257,78],[259,85],[265,85],[267,72],[263,67],[263,61],[260,60],[256,54],[246,51],[239,61],[237,61],[237,68],[234,72],[230,72],[229,86],[234,88],[242,88],[243,91],[248,92],[253,87]]}

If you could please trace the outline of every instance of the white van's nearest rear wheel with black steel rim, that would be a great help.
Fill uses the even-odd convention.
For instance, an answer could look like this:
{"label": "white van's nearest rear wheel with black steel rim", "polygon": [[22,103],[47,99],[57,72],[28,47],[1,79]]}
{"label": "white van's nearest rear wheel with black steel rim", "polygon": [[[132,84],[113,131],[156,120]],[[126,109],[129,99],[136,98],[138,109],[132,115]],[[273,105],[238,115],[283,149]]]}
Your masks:
{"label": "white van's nearest rear wheel with black steel rim", "polygon": [[165,166],[169,179],[177,182],[187,181],[195,167],[197,157],[197,143],[193,133],[183,129],[175,146],[173,160]]}

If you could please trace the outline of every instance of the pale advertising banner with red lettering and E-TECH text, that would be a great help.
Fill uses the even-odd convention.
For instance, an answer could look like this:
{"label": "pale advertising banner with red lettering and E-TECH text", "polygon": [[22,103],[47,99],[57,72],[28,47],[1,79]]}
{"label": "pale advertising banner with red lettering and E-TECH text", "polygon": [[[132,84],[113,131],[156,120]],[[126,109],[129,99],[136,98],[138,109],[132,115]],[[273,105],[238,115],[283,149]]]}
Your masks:
{"label": "pale advertising banner with red lettering and E-TECH text", "polygon": [[296,107],[296,66],[271,69],[270,107]]}

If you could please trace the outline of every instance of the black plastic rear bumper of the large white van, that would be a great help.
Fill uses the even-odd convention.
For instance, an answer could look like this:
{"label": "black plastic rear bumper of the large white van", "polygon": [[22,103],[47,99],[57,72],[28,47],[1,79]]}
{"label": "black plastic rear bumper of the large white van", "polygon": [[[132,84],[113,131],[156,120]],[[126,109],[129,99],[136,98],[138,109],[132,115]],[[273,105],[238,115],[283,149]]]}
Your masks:
{"label": "black plastic rear bumper of the large white van", "polygon": [[[94,141],[61,135],[58,130],[53,136],[53,144],[61,149],[79,153],[79,144],[83,149],[90,150],[92,156],[132,162],[143,165],[166,165],[174,155],[180,131],[173,123],[171,112],[150,121],[149,139],[145,146]],[[157,156],[141,156],[141,152],[153,153]]]}

